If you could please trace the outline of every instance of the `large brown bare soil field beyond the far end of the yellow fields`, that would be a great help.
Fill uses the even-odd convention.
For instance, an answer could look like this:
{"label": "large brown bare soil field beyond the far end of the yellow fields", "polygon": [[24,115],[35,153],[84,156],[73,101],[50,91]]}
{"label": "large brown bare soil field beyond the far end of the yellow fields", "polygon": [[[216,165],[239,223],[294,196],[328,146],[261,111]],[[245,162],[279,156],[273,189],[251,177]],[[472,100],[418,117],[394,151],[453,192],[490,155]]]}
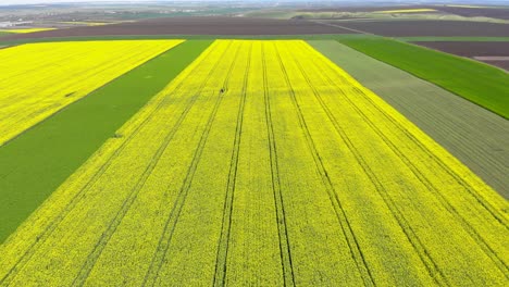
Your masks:
{"label": "large brown bare soil field beyond the far end of the yellow fields", "polygon": [[110,35],[303,35],[351,33],[339,27],[307,21],[245,17],[172,17],[12,35],[2,39]]}

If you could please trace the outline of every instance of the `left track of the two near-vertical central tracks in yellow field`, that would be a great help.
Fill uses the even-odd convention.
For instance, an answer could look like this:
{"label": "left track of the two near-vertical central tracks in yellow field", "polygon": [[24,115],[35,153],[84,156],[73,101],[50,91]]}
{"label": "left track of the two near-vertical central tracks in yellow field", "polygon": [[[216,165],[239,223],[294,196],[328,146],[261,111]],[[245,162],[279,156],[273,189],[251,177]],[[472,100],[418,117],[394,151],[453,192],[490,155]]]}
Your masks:
{"label": "left track of the two near-vertical central tracks in yellow field", "polygon": [[225,285],[229,235],[231,235],[231,229],[232,229],[232,214],[233,214],[233,205],[234,205],[233,202],[234,202],[234,197],[235,197],[237,166],[238,166],[238,160],[239,160],[240,140],[241,140],[241,133],[243,133],[243,124],[244,124],[244,108],[246,104],[249,70],[251,66],[251,52],[252,52],[252,45],[249,46],[248,61],[247,61],[246,71],[244,74],[241,99],[240,99],[240,104],[239,104],[238,113],[237,113],[237,124],[235,127],[234,148],[232,150],[228,183],[226,187],[224,209],[223,209],[224,210],[223,223],[221,225],[222,232],[221,232],[221,237],[220,237],[220,241],[218,245],[218,258],[215,261],[214,286]]}

